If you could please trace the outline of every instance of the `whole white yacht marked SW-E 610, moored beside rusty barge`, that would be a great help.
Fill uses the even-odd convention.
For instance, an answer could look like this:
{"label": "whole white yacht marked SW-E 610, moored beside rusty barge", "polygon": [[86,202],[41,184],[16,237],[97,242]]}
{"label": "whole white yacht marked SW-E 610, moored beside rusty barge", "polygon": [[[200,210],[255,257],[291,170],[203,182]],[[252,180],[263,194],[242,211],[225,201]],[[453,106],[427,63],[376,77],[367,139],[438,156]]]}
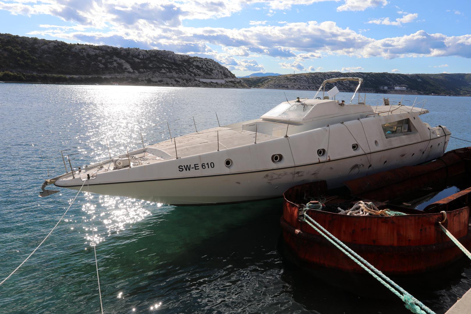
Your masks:
{"label": "whole white yacht marked SW-E 610, moored beside rusty barge", "polygon": [[[327,83],[357,81],[349,103]],[[365,105],[361,78],[333,78],[313,99],[285,101],[259,119],[166,140],[73,169],[48,184],[174,205],[269,199],[300,183],[326,180],[331,188],[375,172],[436,159],[451,132],[430,127],[428,110],[398,103]],[[325,95],[328,93],[329,95]],[[322,98],[318,97],[322,94]]]}

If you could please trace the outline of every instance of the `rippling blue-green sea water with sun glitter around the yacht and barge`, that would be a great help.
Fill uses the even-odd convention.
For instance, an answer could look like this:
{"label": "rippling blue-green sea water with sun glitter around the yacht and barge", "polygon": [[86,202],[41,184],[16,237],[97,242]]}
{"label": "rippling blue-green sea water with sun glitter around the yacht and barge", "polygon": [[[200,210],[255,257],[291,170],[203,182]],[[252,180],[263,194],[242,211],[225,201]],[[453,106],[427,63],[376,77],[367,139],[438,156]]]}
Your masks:
{"label": "rippling blue-green sea water with sun glitter around the yacht and barge", "polygon": [[[48,172],[49,177],[64,172],[60,150],[80,153],[73,156],[73,166],[90,163],[107,158],[106,143],[112,154],[139,147],[139,129],[146,143],[154,143],[168,138],[165,121],[172,136],[178,136],[194,130],[193,116],[198,129],[217,126],[215,112],[221,125],[249,120],[284,101],[284,93],[288,99],[314,95],[0,84],[0,281],[42,241],[75,196],[69,190],[37,196]],[[403,101],[409,105],[414,98]],[[471,98],[418,100],[424,98],[424,108],[430,110],[424,121],[446,125],[453,136],[471,140]],[[466,144],[451,139],[448,149]],[[0,312],[98,313],[90,246],[96,243],[106,313],[409,313],[399,300],[357,297],[285,261],[279,250],[281,204],[278,199],[173,207],[80,193],[49,239],[0,286]],[[404,283],[426,305],[444,313],[471,287],[469,262],[451,268],[446,279],[433,284]]]}

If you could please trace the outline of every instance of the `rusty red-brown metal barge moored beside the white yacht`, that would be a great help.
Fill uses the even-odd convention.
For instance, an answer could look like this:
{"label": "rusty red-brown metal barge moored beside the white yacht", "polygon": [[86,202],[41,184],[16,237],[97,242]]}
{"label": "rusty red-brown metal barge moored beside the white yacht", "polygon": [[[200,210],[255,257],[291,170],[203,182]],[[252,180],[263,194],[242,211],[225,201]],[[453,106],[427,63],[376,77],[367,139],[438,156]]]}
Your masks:
{"label": "rusty red-brown metal barge moored beside the white yacht", "polygon": [[[284,193],[281,226],[286,246],[296,263],[305,268],[327,267],[364,272],[340,250],[300,219],[309,215],[339,240],[385,274],[420,274],[447,266],[463,256],[440,229],[439,222],[466,248],[471,247],[471,147],[444,154],[427,164],[407,166],[344,182],[348,191],[328,191],[325,182],[297,185]],[[390,201],[401,195],[443,182],[463,179],[461,191],[431,202],[423,210]],[[465,187],[468,188],[465,188]],[[333,194],[336,193],[336,194]],[[309,198],[324,197],[324,210],[302,210]],[[374,201],[372,201],[374,200]],[[401,216],[349,216],[338,206],[372,202],[378,210]],[[334,209],[334,210],[331,210]],[[340,208],[339,208],[340,210]]]}

